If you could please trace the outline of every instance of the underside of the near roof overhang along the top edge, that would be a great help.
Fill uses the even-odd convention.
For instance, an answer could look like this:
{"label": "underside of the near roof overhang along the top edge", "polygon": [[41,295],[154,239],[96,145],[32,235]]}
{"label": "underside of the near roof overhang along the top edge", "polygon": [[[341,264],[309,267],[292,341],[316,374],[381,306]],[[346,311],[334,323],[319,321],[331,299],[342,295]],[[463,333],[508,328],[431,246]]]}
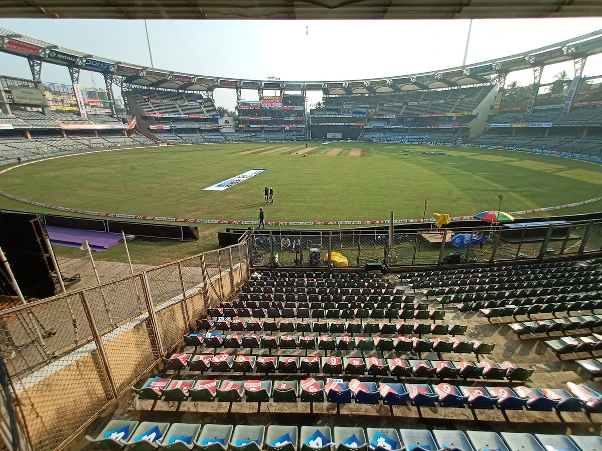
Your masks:
{"label": "underside of the near roof overhang along the top edge", "polygon": [[2,0],[0,17],[486,19],[602,16],[599,0]]}

